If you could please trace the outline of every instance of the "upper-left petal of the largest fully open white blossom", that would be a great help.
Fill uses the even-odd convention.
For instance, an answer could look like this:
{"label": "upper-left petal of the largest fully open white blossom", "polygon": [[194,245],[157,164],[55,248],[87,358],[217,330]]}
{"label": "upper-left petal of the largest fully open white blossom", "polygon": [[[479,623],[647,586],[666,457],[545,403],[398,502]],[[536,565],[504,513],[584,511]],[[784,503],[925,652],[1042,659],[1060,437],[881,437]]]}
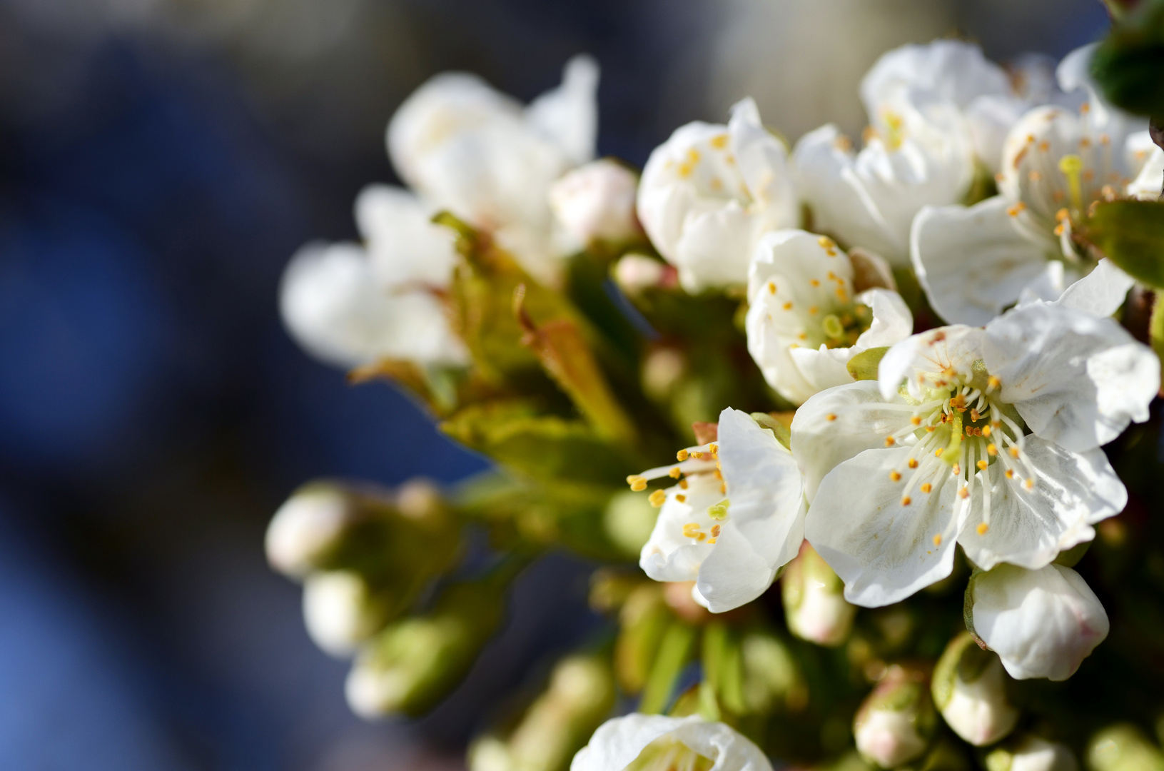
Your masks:
{"label": "upper-left petal of the largest fully open white blossom", "polygon": [[[895,405],[904,404],[900,397]],[[885,438],[909,425],[908,410],[886,406],[878,384],[861,380],[811,397],[793,417],[793,458],[804,474],[804,495],[816,496],[824,475],[858,453],[883,447]]]}

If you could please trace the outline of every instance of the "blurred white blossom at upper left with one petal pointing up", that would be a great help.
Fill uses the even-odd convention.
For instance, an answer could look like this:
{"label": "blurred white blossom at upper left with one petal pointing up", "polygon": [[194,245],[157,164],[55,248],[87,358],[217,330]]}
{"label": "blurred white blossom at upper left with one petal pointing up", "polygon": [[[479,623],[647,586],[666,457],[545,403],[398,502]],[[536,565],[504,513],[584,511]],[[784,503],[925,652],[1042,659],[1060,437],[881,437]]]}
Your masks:
{"label": "blurred white blossom at upper left with one petal pointing up", "polygon": [[392,116],[389,155],[421,198],[491,232],[552,283],[562,249],[549,186],[594,157],[597,84],[597,64],[576,56],[561,86],[523,107],[477,76],[438,75]]}

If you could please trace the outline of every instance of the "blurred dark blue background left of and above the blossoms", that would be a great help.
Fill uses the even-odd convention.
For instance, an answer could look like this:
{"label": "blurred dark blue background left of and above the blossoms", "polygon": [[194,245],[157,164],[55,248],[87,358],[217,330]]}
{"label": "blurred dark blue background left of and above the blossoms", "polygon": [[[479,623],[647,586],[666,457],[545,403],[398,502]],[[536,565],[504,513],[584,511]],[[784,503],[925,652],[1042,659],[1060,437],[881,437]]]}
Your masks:
{"label": "blurred dark blue background left of and above the blossoms", "polygon": [[530,99],[590,51],[599,150],[641,164],[745,93],[789,136],[859,132],[860,75],[904,42],[1060,56],[1105,23],[1095,0],[0,0],[0,768],[457,768],[494,694],[584,634],[581,567],[551,559],[450,703],[368,726],[263,558],[307,479],[483,467],[276,311],[289,255],[354,238],[356,192],[393,179],[383,129],[425,78]]}

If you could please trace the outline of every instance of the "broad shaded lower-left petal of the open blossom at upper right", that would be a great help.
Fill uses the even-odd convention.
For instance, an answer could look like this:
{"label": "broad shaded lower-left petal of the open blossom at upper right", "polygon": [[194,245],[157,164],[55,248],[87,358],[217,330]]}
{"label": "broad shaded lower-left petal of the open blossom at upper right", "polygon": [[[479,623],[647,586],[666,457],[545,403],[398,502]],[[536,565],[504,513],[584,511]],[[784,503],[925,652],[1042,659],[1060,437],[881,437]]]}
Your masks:
{"label": "broad shaded lower-left petal of the open blossom at upper right", "polygon": [[927,206],[914,219],[910,256],[930,305],[951,324],[986,324],[1046,267],[1050,241],[1018,229],[1002,196],[974,206]]}

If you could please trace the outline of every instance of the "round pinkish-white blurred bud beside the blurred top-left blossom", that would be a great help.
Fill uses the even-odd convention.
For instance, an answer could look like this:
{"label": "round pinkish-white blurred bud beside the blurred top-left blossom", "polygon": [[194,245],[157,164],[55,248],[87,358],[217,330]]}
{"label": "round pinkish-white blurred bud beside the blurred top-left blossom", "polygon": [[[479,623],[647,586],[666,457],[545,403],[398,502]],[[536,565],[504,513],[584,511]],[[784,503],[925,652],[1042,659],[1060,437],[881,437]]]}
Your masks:
{"label": "round pinkish-white blurred bud beside the blurred top-left blossom", "polygon": [[634,214],[638,176],[609,158],[591,161],[549,188],[549,206],[580,243],[629,241],[641,233]]}

